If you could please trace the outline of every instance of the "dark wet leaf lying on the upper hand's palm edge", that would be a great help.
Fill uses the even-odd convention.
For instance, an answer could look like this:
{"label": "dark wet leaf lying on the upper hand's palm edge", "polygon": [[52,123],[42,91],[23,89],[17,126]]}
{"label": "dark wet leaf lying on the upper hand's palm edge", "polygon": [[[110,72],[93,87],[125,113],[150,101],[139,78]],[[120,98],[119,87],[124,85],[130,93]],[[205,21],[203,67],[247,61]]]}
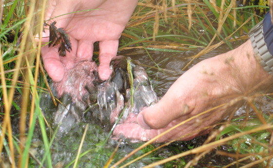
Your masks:
{"label": "dark wet leaf lying on the upper hand's palm edge", "polygon": [[72,45],[66,32],[62,28],[57,28],[55,26],[56,21],[52,22],[50,25],[47,23],[44,24],[49,26],[48,47],[51,45],[54,47],[59,44],[59,56],[66,56],[66,51],[70,53],[72,50]]}

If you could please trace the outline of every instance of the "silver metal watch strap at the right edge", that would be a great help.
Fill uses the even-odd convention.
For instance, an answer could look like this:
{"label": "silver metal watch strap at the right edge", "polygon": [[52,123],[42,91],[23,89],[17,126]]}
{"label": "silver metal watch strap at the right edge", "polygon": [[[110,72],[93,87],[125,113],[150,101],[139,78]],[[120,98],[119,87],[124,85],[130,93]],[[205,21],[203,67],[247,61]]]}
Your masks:
{"label": "silver metal watch strap at the right edge", "polygon": [[248,36],[252,42],[254,55],[258,56],[261,66],[270,75],[273,74],[273,56],[269,53],[263,36],[263,21],[255,25]]}

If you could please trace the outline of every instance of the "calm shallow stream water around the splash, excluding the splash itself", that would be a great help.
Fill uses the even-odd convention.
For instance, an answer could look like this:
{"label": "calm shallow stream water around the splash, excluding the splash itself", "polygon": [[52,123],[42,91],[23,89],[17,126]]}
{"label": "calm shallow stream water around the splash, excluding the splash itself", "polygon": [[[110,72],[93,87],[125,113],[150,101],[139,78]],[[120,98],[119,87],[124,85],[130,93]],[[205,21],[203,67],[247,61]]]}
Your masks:
{"label": "calm shallow stream water around the splash, excluding the splash itself", "polygon": [[[145,68],[150,78],[154,91],[160,99],[160,97],[162,97],[167,92],[168,88],[170,88],[175,80],[187,69],[191,68],[201,60],[227,52],[229,51],[229,48],[225,45],[222,45],[213,52],[196,58],[185,71],[181,71],[182,68],[190,61],[190,59],[187,57],[193,56],[199,51],[201,51],[201,49],[185,51],[181,53],[162,53],[150,51],[149,53],[152,59],[161,69],[158,69],[155,66],[154,61],[146,54],[146,52],[143,52],[143,50],[119,52],[118,55],[130,57],[133,60],[138,60],[141,62],[141,65]],[[69,99],[69,97],[64,97],[63,100],[64,99]],[[71,127],[68,131],[60,131],[61,133],[58,133],[58,123],[54,122],[55,116],[52,115],[57,111],[57,107],[53,105],[51,97],[48,94],[42,95],[41,102],[43,103],[42,108],[44,109],[42,110],[44,112],[45,118],[51,126],[47,130],[48,136],[55,136],[51,147],[53,162],[52,165],[54,168],[73,167],[75,158],[78,153],[78,147],[87,124],[88,129],[81,149],[81,157],[79,158],[78,168],[103,168],[117,146],[119,148],[113,158],[112,163],[116,163],[118,160],[125,157],[128,153],[143,144],[143,142],[132,143],[128,139],[121,139],[119,141],[111,139],[110,130],[112,126],[109,128],[109,125],[107,124],[98,124],[98,122],[93,122],[92,118],[88,116],[88,113],[83,115],[81,121],[70,124]],[[241,111],[244,110],[241,109]],[[201,146],[206,138],[207,135],[195,137],[189,141],[176,141],[134,162],[128,166],[128,168],[141,168],[158,160],[162,160],[164,158],[181,153],[182,151],[196,148]],[[162,144],[148,145],[144,149],[139,150],[126,162],[129,162],[160,145]],[[228,146],[221,146],[221,150],[224,151],[226,151],[228,148]],[[42,136],[39,131],[39,126],[36,127],[31,151],[33,155],[39,160],[41,160],[44,156],[45,150],[42,142]],[[156,168],[183,168],[188,161],[193,159],[193,157],[194,156],[190,155],[179,158],[169,163],[156,166]],[[223,166],[233,161],[234,159],[231,157],[220,156],[217,155],[215,151],[212,151],[199,161],[200,164],[198,164],[196,168],[202,168],[203,166]],[[34,165],[34,167],[38,167],[34,160],[30,160],[30,162]]]}

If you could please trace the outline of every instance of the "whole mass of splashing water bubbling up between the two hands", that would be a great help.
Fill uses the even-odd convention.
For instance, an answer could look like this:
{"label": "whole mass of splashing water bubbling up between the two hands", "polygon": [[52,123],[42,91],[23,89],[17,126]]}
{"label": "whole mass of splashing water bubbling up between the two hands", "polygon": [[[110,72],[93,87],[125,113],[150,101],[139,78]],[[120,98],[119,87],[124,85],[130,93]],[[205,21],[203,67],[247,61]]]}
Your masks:
{"label": "whole mass of splashing water bubbling up between the two hands", "polygon": [[[52,116],[59,126],[58,135],[68,133],[79,121],[98,124],[107,131],[121,112],[119,123],[156,104],[156,93],[138,61],[116,56],[110,65],[113,73],[106,81],[99,79],[94,62],[82,60],[67,70],[60,82],[53,83],[62,102]],[[44,107],[48,103],[41,102],[41,109],[48,113]]]}

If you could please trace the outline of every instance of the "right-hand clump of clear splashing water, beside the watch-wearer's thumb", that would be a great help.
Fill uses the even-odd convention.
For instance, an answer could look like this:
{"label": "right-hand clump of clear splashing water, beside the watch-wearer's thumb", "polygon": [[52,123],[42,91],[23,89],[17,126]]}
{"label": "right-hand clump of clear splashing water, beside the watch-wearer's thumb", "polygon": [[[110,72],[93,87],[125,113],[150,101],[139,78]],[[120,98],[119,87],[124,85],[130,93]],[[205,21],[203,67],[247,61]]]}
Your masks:
{"label": "right-hand clump of clear splashing water, beside the watch-wearer's thumb", "polygon": [[[121,64],[124,66],[120,66]],[[143,107],[156,104],[156,93],[139,62],[122,56],[114,61],[111,68],[114,73],[110,79],[98,87],[100,113],[110,115],[111,123],[117,121],[120,112],[123,112],[120,119],[120,122],[123,122],[130,114],[132,117]]]}

